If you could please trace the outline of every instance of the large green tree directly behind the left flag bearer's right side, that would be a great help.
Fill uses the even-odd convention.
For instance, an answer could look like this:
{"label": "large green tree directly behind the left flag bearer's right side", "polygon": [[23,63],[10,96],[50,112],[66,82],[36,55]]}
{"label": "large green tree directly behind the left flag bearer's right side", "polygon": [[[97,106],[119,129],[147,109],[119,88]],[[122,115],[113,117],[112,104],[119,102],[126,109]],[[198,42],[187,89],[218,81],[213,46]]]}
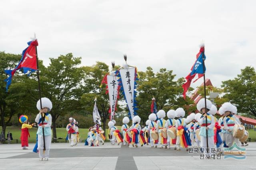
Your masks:
{"label": "large green tree directly behind the left flag bearer's right side", "polygon": [[[53,137],[56,138],[56,120],[60,115],[72,113],[80,108],[84,67],[80,67],[81,57],[72,53],[50,58],[50,65],[40,69],[42,97],[52,101]],[[67,120],[68,122],[68,120]]]}

